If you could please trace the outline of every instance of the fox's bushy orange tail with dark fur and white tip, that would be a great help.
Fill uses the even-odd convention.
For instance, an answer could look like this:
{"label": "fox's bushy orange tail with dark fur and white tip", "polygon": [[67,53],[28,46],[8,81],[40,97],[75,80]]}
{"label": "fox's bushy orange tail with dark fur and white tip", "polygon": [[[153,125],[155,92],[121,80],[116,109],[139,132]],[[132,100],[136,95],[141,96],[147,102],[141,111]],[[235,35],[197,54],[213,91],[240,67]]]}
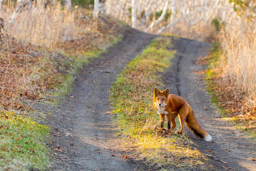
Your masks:
{"label": "fox's bushy orange tail with dark fur and white tip", "polygon": [[204,139],[205,141],[211,141],[212,136],[209,135],[202,127],[198,124],[192,108],[189,109],[188,116],[186,117],[186,126],[194,133],[194,135]]}

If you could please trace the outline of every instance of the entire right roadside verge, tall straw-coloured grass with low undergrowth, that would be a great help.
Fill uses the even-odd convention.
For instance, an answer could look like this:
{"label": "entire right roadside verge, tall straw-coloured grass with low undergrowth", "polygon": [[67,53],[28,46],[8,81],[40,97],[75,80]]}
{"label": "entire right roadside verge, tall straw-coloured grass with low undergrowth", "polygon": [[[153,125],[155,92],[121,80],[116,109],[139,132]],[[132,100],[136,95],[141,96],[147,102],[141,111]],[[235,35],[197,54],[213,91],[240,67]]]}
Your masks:
{"label": "entire right roadside verge, tall straw-coloured grass with low undergrowth", "polygon": [[[247,136],[256,137],[255,2],[234,1],[237,19],[216,19],[218,41],[206,72],[213,101],[225,120],[234,121]],[[221,23],[221,24],[220,24]],[[203,63],[205,63],[203,62]]]}

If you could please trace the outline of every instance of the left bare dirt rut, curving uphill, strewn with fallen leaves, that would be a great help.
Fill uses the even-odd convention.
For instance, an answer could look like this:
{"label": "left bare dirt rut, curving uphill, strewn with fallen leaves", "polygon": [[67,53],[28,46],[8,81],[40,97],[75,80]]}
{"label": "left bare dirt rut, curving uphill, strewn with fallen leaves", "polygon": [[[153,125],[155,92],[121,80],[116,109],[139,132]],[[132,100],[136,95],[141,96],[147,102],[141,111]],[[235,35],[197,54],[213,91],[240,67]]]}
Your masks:
{"label": "left bare dirt rut, curving uphill, strewn with fallen leaves", "polygon": [[111,123],[109,88],[119,72],[155,35],[127,28],[122,42],[87,64],[75,77],[71,93],[52,109],[55,165],[52,170],[149,170],[117,151]]}

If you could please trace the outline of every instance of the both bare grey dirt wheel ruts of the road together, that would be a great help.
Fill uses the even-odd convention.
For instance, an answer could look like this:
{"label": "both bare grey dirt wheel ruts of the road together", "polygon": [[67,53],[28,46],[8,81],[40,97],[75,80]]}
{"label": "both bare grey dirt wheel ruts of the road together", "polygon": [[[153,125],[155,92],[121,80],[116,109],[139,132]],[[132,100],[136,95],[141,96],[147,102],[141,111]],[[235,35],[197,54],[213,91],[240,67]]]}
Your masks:
{"label": "both bare grey dirt wheel ruts of the road together", "polygon": [[[129,28],[122,42],[84,66],[76,76],[71,93],[51,109],[51,147],[55,153],[52,170],[152,170],[143,161],[124,159],[125,152],[116,150],[108,90],[129,60],[154,37]],[[216,170],[254,170],[256,162],[251,159],[256,155],[255,144],[221,120],[209,101],[202,76],[196,74],[204,68],[194,61],[206,54],[209,44],[180,38],[175,38],[173,44],[177,54],[172,67],[162,74],[165,85],[171,93],[188,100],[198,122],[213,136],[213,143],[197,139],[188,130],[186,134]]]}

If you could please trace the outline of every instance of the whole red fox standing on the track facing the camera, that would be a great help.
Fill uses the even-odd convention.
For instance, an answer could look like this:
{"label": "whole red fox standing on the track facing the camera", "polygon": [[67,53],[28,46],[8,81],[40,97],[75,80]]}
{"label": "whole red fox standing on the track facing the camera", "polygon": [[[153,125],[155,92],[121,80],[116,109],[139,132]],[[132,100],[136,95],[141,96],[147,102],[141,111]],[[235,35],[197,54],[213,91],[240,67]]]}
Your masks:
{"label": "whole red fox standing on the track facing the camera", "polygon": [[[212,136],[209,135],[202,127],[198,124],[194,117],[194,112],[188,102],[180,96],[169,95],[169,89],[160,91],[154,89],[153,105],[160,115],[161,128],[164,128],[165,115],[168,119],[168,129],[172,131],[176,127],[175,118],[178,116],[180,120],[181,129],[178,133],[184,135],[184,123],[186,126],[198,137],[205,141],[211,141]],[[172,127],[170,127],[170,123]]]}

